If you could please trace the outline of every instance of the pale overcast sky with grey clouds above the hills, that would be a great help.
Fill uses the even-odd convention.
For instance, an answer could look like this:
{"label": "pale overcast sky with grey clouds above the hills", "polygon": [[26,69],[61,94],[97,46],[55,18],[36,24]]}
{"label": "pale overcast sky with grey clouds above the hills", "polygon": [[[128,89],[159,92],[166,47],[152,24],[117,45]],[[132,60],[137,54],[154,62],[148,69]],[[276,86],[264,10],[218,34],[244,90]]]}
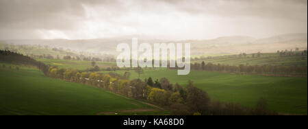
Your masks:
{"label": "pale overcast sky with grey clouds above the hills", "polygon": [[0,0],[0,39],[307,33],[307,0]]}

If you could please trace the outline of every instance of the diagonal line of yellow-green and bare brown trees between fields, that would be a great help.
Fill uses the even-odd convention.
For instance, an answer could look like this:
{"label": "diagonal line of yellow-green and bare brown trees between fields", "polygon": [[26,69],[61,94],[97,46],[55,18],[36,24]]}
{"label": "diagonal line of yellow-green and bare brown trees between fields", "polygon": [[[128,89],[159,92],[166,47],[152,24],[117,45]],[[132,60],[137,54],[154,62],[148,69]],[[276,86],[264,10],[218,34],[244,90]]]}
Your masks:
{"label": "diagonal line of yellow-green and bare brown trees between fields", "polygon": [[[120,95],[152,102],[171,111],[172,115],[277,115],[267,110],[266,99],[260,98],[255,108],[213,101],[206,91],[192,81],[187,86],[172,84],[167,78],[129,80],[130,73],[96,73],[76,69],[60,69],[10,51],[0,51],[1,62],[38,67],[51,78],[97,86]],[[136,69],[140,71],[140,69]]]}

